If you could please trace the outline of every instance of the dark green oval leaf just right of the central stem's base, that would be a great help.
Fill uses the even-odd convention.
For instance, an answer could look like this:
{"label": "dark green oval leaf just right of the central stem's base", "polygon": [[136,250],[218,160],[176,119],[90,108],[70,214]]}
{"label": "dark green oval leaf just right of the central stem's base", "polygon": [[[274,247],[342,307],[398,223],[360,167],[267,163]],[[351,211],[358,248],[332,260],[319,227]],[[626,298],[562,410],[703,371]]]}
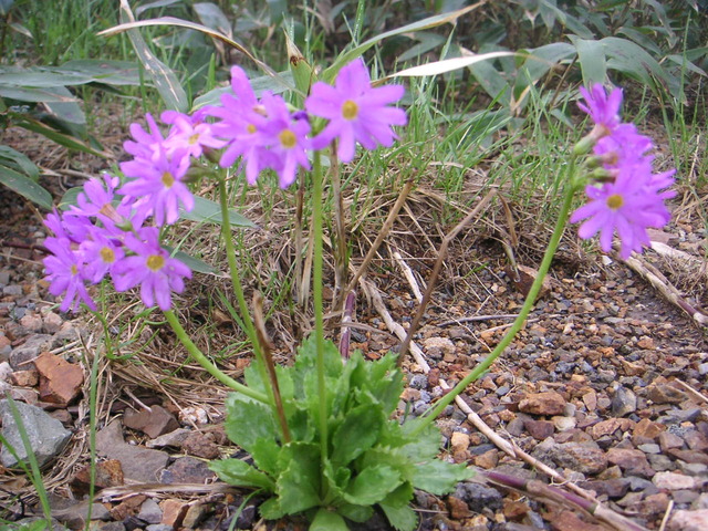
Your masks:
{"label": "dark green oval leaf just right of the central stem's base", "polygon": [[386,416],[381,404],[371,399],[346,413],[342,424],[332,434],[334,451],[332,464],[344,466],[376,444]]}

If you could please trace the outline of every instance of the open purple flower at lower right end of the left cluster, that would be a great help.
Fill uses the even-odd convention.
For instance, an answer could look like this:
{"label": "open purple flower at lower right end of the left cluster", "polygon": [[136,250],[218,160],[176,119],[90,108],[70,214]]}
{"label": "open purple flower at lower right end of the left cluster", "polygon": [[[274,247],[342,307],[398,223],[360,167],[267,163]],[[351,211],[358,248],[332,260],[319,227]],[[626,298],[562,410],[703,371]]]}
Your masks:
{"label": "open purple flower at lower right end of the left cluster", "polygon": [[121,260],[114,270],[114,285],[117,291],[126,291],[140,285],[140,299],[147,308],[156,303],[167,311],[171,305],[171,292],[181,293],[184,279],[191,278],[187,266],[159,247],[158,229],[145,227],[138,236],[128,235],[125,246],[135,256]]}

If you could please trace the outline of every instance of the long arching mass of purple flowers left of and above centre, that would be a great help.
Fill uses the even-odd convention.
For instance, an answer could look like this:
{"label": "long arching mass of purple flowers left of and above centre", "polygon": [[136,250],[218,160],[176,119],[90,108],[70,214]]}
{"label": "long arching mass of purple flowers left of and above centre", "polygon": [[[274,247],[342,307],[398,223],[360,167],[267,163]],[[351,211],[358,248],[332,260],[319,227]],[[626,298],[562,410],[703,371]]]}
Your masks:
{"label": "long arching mass of purple flowers left of and above centre", "polygon": [[[159,229],[175,223],[180,209],[194,208],[188,177],[202,155],[220,150],[223,168],[238,160],[250,184],[270,168],[287,188],[300,167],[310,169],[311,150],[336,144],[340,158],[350,162],[357,142],[367,149],[391,146],[392,126],[406,123],[405,112],[389,106],[400,100],[403,86],[372,87],[361,60],[341,70],[335,86],[315,83],[306,112],[270,92],[257,97],[238,66],[231,69],[231,88],[220,106],[191,115],[164,112],[166,136],[149,114],[147,129],[133,124],[133,139],[124,143],[133,158],[119,165],[125,183],[110,175],[91,179],[76,205],[46,217],[54,232],[45,241],[52,253],[44,260],[46,280],[50,293],[63,295],[62,311],[76,311],[82,302],[95,310],[86,285],[105,278],[117,291],[139,287],[146,306],[169,310],[171,292],[184,290],[191,271],[160,247]],[[311,117],[326,118],[314,136]]]}

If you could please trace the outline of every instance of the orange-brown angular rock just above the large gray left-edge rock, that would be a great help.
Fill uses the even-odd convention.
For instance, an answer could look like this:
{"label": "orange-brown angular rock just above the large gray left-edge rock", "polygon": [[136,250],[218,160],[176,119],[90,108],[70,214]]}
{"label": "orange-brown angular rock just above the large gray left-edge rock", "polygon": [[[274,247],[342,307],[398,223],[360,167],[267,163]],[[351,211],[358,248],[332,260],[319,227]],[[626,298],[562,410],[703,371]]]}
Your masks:
{"label": "orange-brown angular rock just above the large gray left-edge rock", "polygon": [[79,365],[42,352],[34,366],[40,374],[40,400],[65,407],[81,393],[84,373]]}

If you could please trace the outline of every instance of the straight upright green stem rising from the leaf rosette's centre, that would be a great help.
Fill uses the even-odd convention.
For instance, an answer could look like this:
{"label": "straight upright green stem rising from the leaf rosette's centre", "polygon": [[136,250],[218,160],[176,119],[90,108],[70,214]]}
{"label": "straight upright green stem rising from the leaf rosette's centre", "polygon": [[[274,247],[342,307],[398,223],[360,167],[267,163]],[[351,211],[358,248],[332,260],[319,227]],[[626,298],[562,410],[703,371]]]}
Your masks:
{"label": "straight upright green stem rising from the leaf rosette's centre", "polygon": [[314,302],[314,339],[317,352],[317,393],[320,395],[320,447],[322,464],[327,459],[327,399],[324,381],[324,306],[322,304],[322,162],[314,153],[312,171],[312,225],[314,230],[314,257],[312,296]]}

